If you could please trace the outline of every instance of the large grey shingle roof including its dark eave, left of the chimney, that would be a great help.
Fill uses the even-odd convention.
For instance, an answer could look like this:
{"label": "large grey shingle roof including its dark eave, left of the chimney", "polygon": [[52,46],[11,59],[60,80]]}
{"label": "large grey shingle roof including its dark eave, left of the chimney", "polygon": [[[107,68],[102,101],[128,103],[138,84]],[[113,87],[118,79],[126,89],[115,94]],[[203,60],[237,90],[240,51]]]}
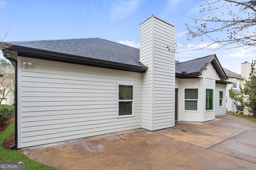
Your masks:
{"label": "large grey shingle roof including its dark eave, left of the chimney", "polygon": [[11,42],[9,50],[18,56],[125,70],[146,72],[139,63],[140,50],[100,38]]}

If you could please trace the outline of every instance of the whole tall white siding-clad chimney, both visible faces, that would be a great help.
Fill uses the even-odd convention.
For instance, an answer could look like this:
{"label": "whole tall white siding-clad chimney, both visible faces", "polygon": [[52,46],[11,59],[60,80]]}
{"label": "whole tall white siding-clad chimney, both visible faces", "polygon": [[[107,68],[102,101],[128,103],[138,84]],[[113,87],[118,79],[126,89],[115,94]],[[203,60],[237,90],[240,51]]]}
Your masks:
{"label": "whole tall white siding-clad chimney, both visible faces", "polygon": [[174,126],[174,25],[150,16],[140,23],[140,61],[148,66],[142,77],[142,127]]}

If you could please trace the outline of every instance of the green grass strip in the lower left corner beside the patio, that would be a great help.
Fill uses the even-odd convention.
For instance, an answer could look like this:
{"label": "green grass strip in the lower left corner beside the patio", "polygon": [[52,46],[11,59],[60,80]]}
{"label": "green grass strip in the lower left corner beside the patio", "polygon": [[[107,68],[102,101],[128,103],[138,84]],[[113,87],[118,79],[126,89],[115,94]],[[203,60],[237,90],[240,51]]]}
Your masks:
{"label": "green grass strip in the lower left corner beside the patio", "polygon": [[3,142],[8,139],[10,135],[14,133],[14,123],[12,123],[5,131],[0,133],[0,161],[1,162],[26,162],[26,170],[56,170],[49,166],[45,166],[38,162],[35,162],[25,156],[20,150],[10,150],[3,147]]}

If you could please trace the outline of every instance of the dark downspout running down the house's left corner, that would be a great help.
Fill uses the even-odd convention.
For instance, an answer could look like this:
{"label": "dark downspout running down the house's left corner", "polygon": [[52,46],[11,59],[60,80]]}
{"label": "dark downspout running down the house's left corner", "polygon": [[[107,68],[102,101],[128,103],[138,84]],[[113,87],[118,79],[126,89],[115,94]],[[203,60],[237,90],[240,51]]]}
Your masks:
{"label": "dark downspout running down the house's left corner", "polygon": [[[7,52],[8,53],[8,52]],[[15,59],[12,59],[11,57],[7,57],[6,54],[3,54],[4,58],[7,60],[13,61],[15,64],[15,111],[14,111],[14,121],[15,121],[15,144],[10,147],[10,149],[15,149],[18,146],[18,107],[17,107],[17,94],[18,94],[18,87],[17,87],[17,82],[18,82],[18,69],[17,69],[17,61]]]}

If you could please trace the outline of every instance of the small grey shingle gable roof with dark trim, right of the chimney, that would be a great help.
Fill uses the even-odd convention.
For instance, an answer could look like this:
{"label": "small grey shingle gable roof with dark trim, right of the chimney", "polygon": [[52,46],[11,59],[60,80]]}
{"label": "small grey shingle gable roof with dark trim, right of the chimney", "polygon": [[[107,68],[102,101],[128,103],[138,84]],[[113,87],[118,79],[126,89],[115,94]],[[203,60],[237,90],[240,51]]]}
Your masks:
{"label": "small grey shingle gable roof with dark trim, right of the chimney", "polygon": [[197,58],[190,61],[185,61],[182,63],[175,64],[175,72],[177,78],[196,78],[196,76],[201,76],[202,71],[212,63],[216,72],[220,76],[221,80],[227,80],[227,76],[220,65],[215,54],[206,57]]}

